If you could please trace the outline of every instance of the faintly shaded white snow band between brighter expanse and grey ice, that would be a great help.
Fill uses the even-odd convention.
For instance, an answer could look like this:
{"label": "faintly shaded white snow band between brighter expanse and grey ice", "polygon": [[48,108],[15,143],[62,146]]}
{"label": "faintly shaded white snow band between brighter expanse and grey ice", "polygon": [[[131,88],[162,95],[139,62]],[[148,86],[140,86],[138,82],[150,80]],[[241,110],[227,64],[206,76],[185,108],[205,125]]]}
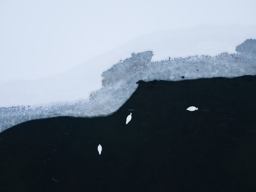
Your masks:
{"label": "faintly shaded white snow band between brighter expanse and grey ice", "polygon": [[[246,39],[256,39],[256,26],[198,26],[140,36],[116,49],[99,55],[81,66],[57,76],[36,81],[0,83],[0,107],[75,102],[89,98],[101,87],[101,74],[131,53],[153,51],[152,61],[188,55],[235,53]],[[100,45],[99,45],[100,46]]]}

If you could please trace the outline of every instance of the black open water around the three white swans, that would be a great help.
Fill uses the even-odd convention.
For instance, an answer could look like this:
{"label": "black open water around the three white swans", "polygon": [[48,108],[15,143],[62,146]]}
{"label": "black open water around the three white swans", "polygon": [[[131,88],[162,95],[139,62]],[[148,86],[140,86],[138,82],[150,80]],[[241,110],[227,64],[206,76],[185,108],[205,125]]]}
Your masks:
{"label": "black open water around the three white swans", "polygon": [[256,191],[255,119],[256,76],[140,82],[108,117],[0,133],[0,191]]}

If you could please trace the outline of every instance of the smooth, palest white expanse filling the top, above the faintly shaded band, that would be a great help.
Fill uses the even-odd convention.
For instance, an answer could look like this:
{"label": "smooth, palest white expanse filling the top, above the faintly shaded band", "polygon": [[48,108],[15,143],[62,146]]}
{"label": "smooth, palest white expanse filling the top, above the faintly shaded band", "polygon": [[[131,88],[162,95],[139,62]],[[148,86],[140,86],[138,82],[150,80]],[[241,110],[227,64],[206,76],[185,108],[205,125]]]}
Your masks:
{"label": "smooth, palest white expanse filling the top, above the faintly shaded band", "polygon": [[255,0],[0,0],[0,82],[59,74],[154,31],[256,25],[255,7]]}

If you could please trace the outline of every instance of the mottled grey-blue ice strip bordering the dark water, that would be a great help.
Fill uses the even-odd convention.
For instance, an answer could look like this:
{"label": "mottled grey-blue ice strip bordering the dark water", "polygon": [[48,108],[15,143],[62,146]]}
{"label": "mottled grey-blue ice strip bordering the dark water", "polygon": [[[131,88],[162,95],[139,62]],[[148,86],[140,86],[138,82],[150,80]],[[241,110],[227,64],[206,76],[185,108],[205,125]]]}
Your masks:
{"label": "mottled grey-blue ice strip bordering the dark water", "polygon": [[195,55],[151,61],[152,51],[132,53],[102,73],[102,87],[89,100],[74,103],[52,103],[43,106],[0,108],[0,131],[32,119],[57,116],[107,116],[117,111],[137,89],[139,80],[182,81],[184,79],[238,77],[256,75],[256,40],[247,39],[236,47],[237,53],[221,53],[214,57]]}

